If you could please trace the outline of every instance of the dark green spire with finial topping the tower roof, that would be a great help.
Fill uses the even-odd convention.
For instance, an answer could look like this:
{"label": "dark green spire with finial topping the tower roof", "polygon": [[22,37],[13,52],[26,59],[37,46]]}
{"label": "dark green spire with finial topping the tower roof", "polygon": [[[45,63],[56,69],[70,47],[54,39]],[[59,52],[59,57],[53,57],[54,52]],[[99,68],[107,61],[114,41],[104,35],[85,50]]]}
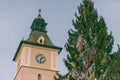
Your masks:
{"label": "dark green spire with finial topping the tower roof", "polygon": [[38,16],[34,19],[31,29],[32,31],[39,31],[39,32],[47,32],[46,31],[46,25],[45,20],[41,17],[41,9],[39,9]]}

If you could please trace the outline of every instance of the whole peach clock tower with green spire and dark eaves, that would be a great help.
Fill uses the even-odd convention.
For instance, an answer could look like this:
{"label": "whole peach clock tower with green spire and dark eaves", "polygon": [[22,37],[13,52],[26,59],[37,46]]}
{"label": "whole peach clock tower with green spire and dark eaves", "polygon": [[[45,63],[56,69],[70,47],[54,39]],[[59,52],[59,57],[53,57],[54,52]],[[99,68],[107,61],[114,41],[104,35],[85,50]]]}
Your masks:
{"label": "whole peach clock tower with green spire and dark eaves", "polygon": [[33,20],[27,40],[18,46],[14,80],[54,80],[58,72],[58,55],[62,48],[55,46],[47,35],[45,20],[40,15]]}

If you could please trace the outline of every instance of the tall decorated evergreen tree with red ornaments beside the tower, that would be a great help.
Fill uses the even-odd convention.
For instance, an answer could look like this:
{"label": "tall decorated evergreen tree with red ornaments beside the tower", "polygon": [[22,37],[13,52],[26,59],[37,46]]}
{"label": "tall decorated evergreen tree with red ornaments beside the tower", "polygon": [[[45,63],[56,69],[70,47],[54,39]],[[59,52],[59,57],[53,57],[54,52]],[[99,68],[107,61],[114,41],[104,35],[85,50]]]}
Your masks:
{"label": "tall decorated evergreen tree with red ornaments beside the tower", "polygon": [[112,34],[108,34],[104,18],[98,16],[91,0],[83,0],[75,17],[72,21],[74,29],[68,31],[69,39],[65,44],[68,54],[64,63],[68,73],[55,80],[88,79],[90,76],[85,74],[93,63],[94,77],[98,79],[109,66],[114,43]]}

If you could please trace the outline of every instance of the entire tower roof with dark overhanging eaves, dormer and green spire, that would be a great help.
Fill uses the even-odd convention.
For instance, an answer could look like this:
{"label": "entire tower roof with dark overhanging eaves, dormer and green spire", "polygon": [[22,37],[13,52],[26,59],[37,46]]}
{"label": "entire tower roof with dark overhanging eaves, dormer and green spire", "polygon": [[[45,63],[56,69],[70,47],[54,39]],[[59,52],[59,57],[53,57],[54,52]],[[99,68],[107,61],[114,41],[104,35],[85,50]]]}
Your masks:
{"label": "entire tower roof with dark overhanging eaves, dormer and green spire", "polygon": [[38,16],[33,20],[33,23],[31,25],[31,33],[27,40],[22,40],[18,46],[18,49],[16,51],[16,54],[13,58],[13,61],[15,61],[20,48],[23,44],[28,44],[32,46],[39,46],[39,47],[45,47],[45,48],[52,48],[59,50],[58,53],[61,52],[62,48],[55,46],[51,39],[47,35],[46,31],[46,25],[45,20],[40,15],[41,10],[39,10]]}

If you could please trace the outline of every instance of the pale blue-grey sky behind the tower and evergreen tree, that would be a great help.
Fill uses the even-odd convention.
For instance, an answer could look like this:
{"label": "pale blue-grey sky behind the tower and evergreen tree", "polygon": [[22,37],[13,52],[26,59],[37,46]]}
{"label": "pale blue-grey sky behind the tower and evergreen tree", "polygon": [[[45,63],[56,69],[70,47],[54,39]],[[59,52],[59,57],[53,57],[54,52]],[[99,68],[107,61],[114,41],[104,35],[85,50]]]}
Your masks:
{"label": "pale blue-grey sky behind the tower and evergreen tree", "polygon": [[[48,23],[47,31],[52,42],[64,48],[67,31],[72,26],[74,13],[81,0],[0,0],[0,80],[13,80],[16,69],[12,61],[22,38],[27,39],[33,19],[41,15]],[[98,14],[105,18],[108,32],[112,31],[116,44],[120,43],[120,0],[95,0]],[[65,49],[59,55],[59,70],[67,70],[63,64]]]}

